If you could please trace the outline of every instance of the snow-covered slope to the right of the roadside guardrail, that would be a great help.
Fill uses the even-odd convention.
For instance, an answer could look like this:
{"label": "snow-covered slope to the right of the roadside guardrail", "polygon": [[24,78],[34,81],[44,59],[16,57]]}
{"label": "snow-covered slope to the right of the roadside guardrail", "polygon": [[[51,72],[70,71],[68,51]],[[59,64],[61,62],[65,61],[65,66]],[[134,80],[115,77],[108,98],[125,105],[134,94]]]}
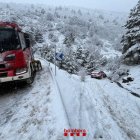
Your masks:
{"label": "snow-covered slope to the right of the roadside guardrail", "polygon": [[71,127],[86,129],[87,140],[139,140],[139,98],[108,79],[81,82],[57,70],[56,80]]}

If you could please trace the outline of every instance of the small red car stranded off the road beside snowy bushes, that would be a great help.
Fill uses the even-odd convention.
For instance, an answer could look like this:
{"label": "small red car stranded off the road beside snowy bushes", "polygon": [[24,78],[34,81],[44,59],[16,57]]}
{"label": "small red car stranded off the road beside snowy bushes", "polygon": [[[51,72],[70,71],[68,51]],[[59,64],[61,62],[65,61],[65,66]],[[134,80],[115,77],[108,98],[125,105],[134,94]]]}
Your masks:
{"label": "small red car stranded off the road beside snowy bushes", "polygon": [[93,71],[91,72],[91,78],[102,79],[105,78],[106,74],[103,71]]}

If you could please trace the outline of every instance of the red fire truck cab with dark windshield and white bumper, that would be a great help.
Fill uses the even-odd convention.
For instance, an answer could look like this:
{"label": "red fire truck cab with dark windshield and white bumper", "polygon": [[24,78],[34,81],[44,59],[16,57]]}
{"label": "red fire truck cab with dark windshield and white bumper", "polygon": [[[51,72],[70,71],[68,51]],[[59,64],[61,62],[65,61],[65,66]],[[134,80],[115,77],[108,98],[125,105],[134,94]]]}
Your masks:
{"label": "red fire truck cab with dark windshield and white bumper", "polygon": [[31,46],[30,36],[17,24],[0,22],[0,83],[32,82],[34,57]]}

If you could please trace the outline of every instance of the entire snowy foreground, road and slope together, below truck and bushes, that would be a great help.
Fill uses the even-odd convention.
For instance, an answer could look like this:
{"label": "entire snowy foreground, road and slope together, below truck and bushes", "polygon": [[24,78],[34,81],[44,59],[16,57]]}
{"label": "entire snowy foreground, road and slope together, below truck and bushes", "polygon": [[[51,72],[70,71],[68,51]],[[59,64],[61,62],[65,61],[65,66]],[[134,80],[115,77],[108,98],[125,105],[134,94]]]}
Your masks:
{"label": "entire snowy foreground, road and slope together, below truck and bushes", "polygon": [[64,140],[64,129],[77,128],[87,136],[76,140],[139,140],[139,98],[108,79],[81,82],[42,64],[31,87],[1,91],[0,139]]}

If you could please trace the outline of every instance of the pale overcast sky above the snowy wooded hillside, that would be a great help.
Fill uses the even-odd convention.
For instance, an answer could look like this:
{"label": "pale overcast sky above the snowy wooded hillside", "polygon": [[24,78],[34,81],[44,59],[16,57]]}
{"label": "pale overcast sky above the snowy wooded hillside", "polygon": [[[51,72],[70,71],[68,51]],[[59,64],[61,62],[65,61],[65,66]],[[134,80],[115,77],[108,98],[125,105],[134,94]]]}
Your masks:
{"label": "pale overcast sky above the snowy wooded hillside", "polygon": [[[103,9],[109,11],[129,12],[138,0],[4,0],[18,3],[43,3],[55,6],[78,6],[90,9]],[[0,0],[0,2],[4,2]]]}

